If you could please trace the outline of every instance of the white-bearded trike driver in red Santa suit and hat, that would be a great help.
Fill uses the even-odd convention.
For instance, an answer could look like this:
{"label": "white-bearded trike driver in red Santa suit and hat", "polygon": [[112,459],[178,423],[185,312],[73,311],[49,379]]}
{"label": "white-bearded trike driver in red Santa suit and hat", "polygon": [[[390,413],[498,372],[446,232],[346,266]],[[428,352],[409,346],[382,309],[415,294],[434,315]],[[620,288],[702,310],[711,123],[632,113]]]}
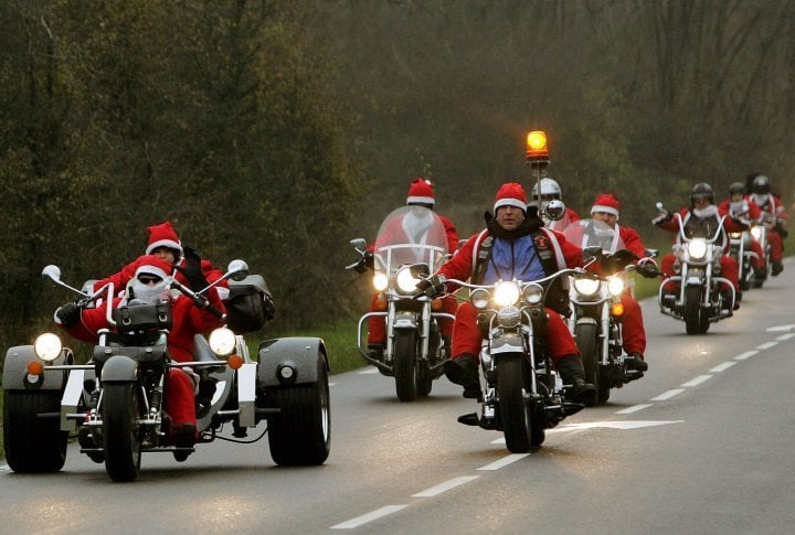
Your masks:
{"label": "white-bearded trike driver in red Santa suit and hat", "polygon": [[[127,296],[130,288],[136,299],[155,302],[151,295],[157,298],[167,299],[171,303],[172,327],[169,331],[168,349],[171,359],[177,362],[193,361],[193,336],[198,333],[205,332],[210,329],[221,327],[222,321],[205,309],[195,306],[192,299],[180,296],[173,297],[168,289],[168,276],[171,266],[168,261],[156,256],[147,255],[136,259],[138,266],[127,286]],[[141,286],[138,277],[141,274],[157,276],[161,282],[152,287]],[[215,291],[211,289],[206,297],[210,304],[224,312],[224,306]],[[114,299],[114,307],[125,304],[127,297]],[[95,309],[83,309],[81,311],[80,322],[75,325],[61,325],[70,335],[83,342],[96,344],[98,342],[97,332],[100,329],[108,328],[106,307],[100,306]],[[60,323],[56,318],[56,323]],[[192,424],[195,426],[195,403],[193,397],[194,384],[191,376],[181,368],[171,368],[168,374],[166,384],[166,397],[163,400],[166,413],[171,417],[173,427],[183,424]]]}

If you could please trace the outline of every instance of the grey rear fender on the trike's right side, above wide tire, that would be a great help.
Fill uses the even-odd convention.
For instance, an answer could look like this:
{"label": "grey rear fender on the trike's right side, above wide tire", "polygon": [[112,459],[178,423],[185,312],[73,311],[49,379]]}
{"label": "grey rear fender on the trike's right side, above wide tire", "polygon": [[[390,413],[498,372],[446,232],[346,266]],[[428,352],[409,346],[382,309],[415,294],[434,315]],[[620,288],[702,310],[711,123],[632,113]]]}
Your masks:
{"label": "grey rear fender on the trike's right side, above wide tire", "polygon": [[[318,356],[328,371],[326,344],[319,338],[292,336],[262,342],[257,350],[257,388],[316,383]],[[284,366],[294,371],[289,381],[279,379],[278,372]]]}

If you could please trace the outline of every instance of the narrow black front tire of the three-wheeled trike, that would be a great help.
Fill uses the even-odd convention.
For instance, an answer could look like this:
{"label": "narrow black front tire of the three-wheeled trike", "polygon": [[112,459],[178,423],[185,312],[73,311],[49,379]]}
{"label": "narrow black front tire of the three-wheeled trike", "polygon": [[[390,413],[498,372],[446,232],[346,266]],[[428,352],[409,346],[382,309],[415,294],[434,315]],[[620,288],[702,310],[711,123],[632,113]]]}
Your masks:
{"label": "narrow black front tire of the three-wheeled trike", "polygon": [[114,481],[132,481],[140,470],[140,405],[135,383],[106,384],[102,415],[105,471]]}

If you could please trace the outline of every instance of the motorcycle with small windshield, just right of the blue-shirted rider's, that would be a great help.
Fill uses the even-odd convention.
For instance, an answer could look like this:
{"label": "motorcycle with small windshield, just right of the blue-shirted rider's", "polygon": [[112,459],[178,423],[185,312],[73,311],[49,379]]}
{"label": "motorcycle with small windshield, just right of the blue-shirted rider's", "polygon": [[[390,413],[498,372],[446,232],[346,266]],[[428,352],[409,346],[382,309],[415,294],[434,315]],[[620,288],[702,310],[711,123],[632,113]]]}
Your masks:
{"label": "motorcycle with small windshield, just right of the blue-shirted rider's", "polygon": [[[606,403],[611,388],[621,388],[630,381],[643,377],[643,373],[627,370],[622,336],[624,306],[621,296],[633,291],[634,281],[627,276],[638,258],[625,249],[618,233],[604,222],[580,220],[563,231],[568,242],[583,248],[591,265],[611,254],[611,270],[606,276],[595,278],[592,274],[572,276],[569,300],[572,313],[569,329],[580,347],[585,368],[585,382],[596,387],[596,402]],[[657,255],[647,250],[647,257]],[[617,261],[619,259],[619,263]]]}

